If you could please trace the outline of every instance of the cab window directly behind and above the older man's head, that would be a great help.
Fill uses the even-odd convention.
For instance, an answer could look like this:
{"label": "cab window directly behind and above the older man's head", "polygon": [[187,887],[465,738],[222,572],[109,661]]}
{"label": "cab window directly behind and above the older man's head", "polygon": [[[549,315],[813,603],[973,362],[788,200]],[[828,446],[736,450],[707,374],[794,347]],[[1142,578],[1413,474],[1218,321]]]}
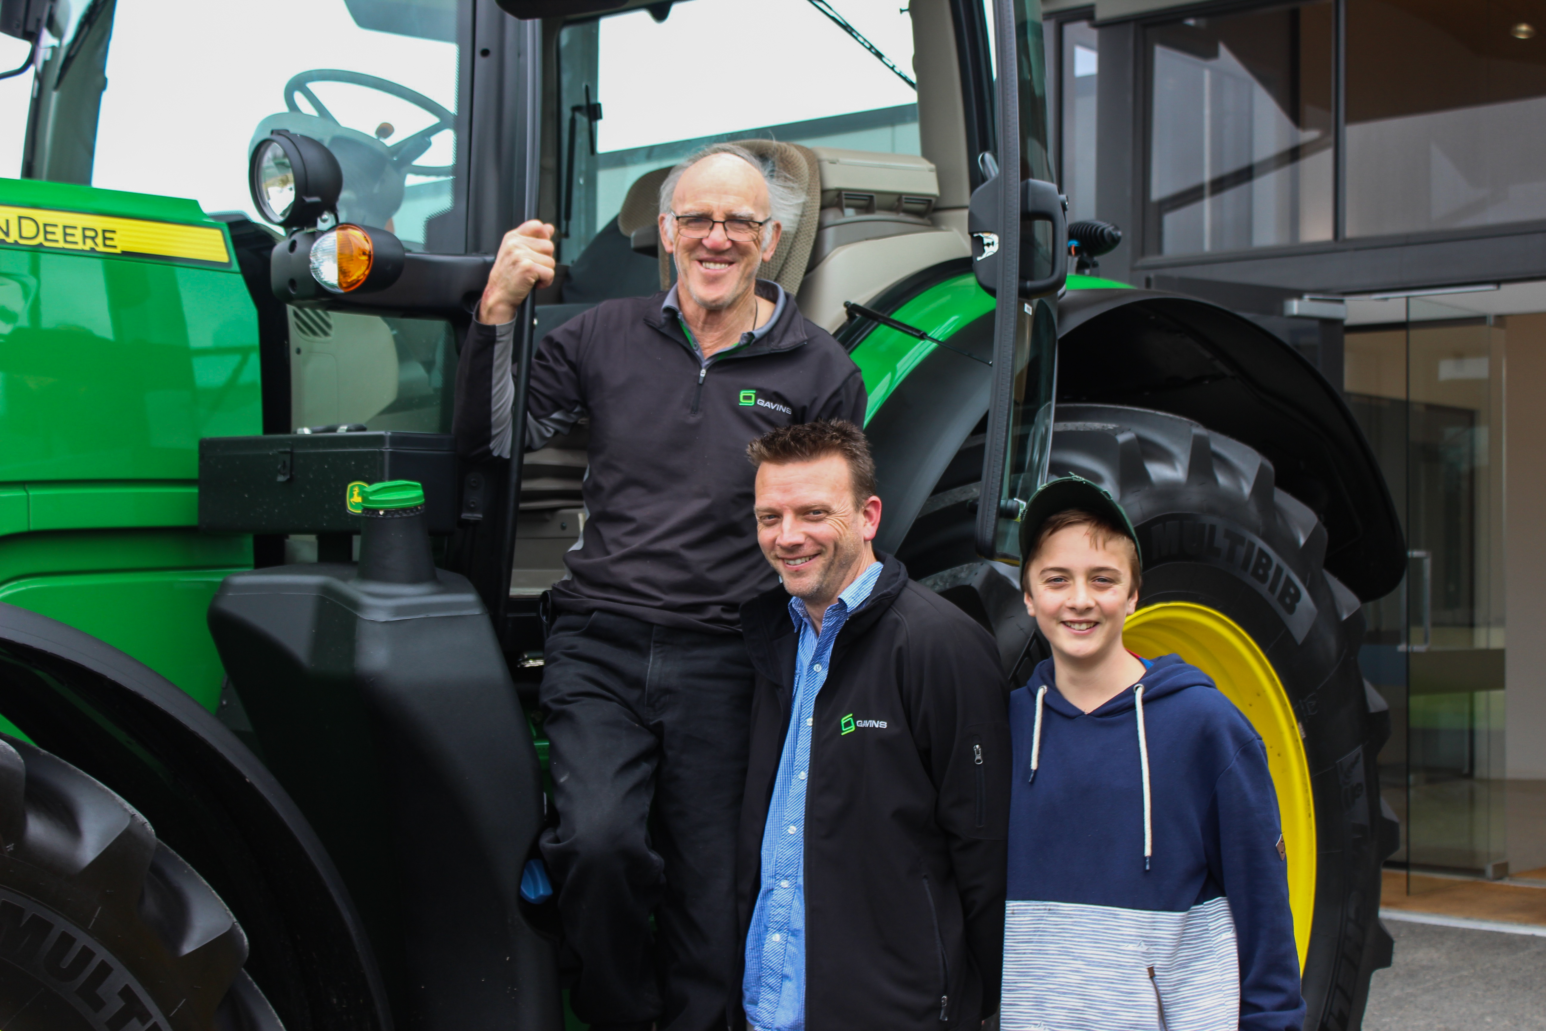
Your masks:
{"label": "cab window directly behind and above the older man's head", "polygon": [[668,3],[569,23],[558,77],[566,261],[643,175],[711,142],[920,153],[912,22],[895,0]]}

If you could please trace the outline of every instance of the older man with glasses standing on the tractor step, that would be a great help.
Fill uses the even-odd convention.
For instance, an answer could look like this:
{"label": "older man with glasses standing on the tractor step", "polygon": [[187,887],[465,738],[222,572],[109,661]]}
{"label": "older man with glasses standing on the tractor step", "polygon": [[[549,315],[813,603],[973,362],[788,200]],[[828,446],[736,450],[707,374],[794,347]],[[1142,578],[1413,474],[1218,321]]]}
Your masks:
{"label": "older man with glasses standing on the tractor step", "polygon": [[864,414],[843,348],[756,278],[798,202],[741,147],[673,168],[660,240],[676,286],[544,337],[515,428],[515,314],[553,277],[552,226],[526,223],[499,246],[458,366],[464,456],[509,456],[516,430],[538,448],[589,417],[584,535],[552,590],[540,700],[558,808],[543,856],[570,1003],[598,1031],[725,1022],[751,703],[737,609],[775,583],[747,518],[745,447]]}

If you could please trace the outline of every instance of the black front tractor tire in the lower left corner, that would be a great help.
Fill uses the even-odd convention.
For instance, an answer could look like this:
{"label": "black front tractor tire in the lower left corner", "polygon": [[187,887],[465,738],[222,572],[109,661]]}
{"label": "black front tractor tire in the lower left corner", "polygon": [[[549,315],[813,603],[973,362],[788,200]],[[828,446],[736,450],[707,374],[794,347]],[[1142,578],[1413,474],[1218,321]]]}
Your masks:
{"label": "black front tractor tire in the lower left corner", "polygon": [[218,895],[124,799],[0,736],[0,1028],[283,1031]]}

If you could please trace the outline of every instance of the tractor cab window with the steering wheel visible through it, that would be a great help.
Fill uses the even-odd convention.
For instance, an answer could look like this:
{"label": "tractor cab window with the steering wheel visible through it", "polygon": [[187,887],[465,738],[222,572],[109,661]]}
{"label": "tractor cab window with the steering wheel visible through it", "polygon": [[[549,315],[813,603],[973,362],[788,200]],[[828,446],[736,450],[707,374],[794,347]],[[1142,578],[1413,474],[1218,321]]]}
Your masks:
{"label": "tractor cab window with the steering wheel visible through it", "polygon": [[32,159],[43,167],[32,175],[190,196],[207,212],[257,218],[246,156],[258,138],[288,128],[337,155],[343,219],[390,229],[413,250],[462,250],[451,198],[465,6],[269,0],[249,9],[247,28],[295,45],[254,48],[212,34],[204,0],[93,0],[45,77],[70,99],[105,73],[96,119],[53,119],[94,122],[94,153],[82,162],[68,141],[39,141]]}

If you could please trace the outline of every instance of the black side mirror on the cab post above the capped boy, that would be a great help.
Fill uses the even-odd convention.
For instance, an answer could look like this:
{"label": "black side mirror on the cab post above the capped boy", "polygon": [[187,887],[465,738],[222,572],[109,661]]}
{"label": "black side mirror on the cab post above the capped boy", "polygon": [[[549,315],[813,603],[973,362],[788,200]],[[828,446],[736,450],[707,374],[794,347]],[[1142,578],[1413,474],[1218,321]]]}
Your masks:
{"label": "black side mirror on the cab post above the capped boy", "polygon": [[[994,175],[971,195],[966,229],[971,233],[977,283],[997,294],[999,233],[996,213],[1003,176]],[[1020,182],[1020,297],[1033,300],[1056,294],[1068,280],[1068,213],[1057,187],[1040,179]]]}

